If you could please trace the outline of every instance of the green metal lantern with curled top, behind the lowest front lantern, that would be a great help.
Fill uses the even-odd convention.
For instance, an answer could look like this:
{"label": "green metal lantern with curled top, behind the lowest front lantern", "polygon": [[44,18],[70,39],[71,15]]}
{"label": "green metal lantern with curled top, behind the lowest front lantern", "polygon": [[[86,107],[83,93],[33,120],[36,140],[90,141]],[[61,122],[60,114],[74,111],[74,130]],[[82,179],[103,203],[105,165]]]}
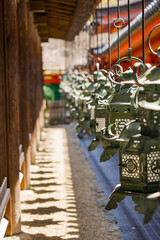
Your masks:
{"label": "green metal lantern with curled top, behind the lowest front lantern", "polygon": [[[104,148],[104,152],[100,157],[101,162],[109,160],[118,151],[118,148],[123,146],[120,143],[119,136],[124,127],[137,118],[137,109],[131,102],[131,95],[134,95],[138,88],[134,81],[136,69],[128,68],[128,70],[123,72],[122,66],[119,65],[122,61],[131,60],[141,63],[140,72],[142,75],[145,71],[145,66],[140,59],[134,57],[119,59],[109,72],[109,79],[116,87],[109,101],[106,102],[108,125],[101,133],[101,144]],[[117,81],[115,81],[115,78]]]}

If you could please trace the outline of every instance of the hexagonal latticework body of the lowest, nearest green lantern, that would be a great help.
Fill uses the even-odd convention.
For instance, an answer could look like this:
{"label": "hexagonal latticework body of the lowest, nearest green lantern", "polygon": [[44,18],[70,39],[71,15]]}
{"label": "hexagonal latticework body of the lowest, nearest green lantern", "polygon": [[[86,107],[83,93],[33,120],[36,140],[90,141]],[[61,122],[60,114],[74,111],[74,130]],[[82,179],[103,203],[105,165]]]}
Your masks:
{"label": "hexagonal latticework body of the lowest, nearest green lantern", "polygon": [[150,193],[159,189],[160,149],[140,153],[140,141],[134,141],[119,153],[120,181],[123,190]]}

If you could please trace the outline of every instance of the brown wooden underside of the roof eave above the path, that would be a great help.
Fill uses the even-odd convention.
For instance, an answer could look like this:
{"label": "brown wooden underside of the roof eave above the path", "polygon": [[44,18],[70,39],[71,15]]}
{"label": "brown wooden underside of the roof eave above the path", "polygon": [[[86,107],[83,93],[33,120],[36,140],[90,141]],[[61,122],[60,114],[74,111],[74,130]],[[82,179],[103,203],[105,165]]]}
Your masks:
{"label": "brown wooden underside of the roof eave above the path", "polygon": [[100,0],[30,0],[30,11],[42,42],[72,41]]}

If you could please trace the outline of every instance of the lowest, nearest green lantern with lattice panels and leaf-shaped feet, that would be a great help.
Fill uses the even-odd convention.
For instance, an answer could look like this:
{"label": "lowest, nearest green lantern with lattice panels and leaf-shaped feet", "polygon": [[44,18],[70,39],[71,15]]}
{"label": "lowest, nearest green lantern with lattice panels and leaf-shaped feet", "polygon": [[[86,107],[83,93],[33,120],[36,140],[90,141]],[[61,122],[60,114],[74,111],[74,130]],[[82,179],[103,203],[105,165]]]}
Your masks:
{"label": "lowest, nearest green lantern with lattice panels and leaf-shaped feet", "polygon": [[131,196],[135,210],[145,214],[144,224],[151,220],[153,212],[146,213],[146,199],[159,190],[160,181],[160,145],[155,143],[156,139],[137,134],[119,151],[120,184],[109,196],[107,210],[115,209],[126,196]]}

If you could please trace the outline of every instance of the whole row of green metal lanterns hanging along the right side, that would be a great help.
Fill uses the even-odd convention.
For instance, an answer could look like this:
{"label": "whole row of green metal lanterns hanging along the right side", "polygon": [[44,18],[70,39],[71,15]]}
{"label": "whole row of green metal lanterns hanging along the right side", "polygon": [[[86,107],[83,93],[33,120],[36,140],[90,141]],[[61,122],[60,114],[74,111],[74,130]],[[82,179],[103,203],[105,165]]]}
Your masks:
{"label": "whole row of green metal lanterns hanging along the right side", "polygon": [[[119,0],[117,4],[119,13]],[[144,23],[144,0],[142,6]],[[114,209],[126,196],[132,196],[137,211],[145,214],[144,223],[148,223],[160,199],[160,65],[152,67],[145,63],[144,48],[143,60],[132,56],[130,0],[128,16],[128,56],[118,55],[117,62],[112,66],[109,62],[107,70],[101,69],[97,60],[93,74],[85,71],[65,74],[60,87],[71,117],[78,121],[79,137],[84,132],[95,136],[88,150],[101,143],[104,148],[101,162],[119,152],[120,184],[109,196],[106,209]],[[120,14],[116,21],[121,21]],[[153,51],[150,44],[153,31],[159,27],[160,24],[156,25],[150,32],[148,45],[160,58],[160,47]],[[144,31],[143,24],[143,39]],[[135,61],[133,69],[123,70],[122,62],[132,60]],[[157,205],[152,205],[152,201]],[[142,202],[146,202],[145,208]],[[153,211],[149,212],[148,207]]]}

